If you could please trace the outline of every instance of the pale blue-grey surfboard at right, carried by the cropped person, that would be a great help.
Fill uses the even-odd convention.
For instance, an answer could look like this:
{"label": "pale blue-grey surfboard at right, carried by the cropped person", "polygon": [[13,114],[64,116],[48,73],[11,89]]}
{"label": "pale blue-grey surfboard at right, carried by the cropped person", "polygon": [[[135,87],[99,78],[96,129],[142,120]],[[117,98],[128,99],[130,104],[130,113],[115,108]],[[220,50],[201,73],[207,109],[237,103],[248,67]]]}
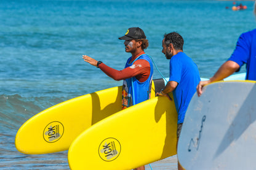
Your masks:
{"label": "pale blue-grey surfboard at right, carried by the cropped person", "polygon": [[256,82],[211,83],[195,94],[178,141],[178,160],[189,169],[254,169]]}

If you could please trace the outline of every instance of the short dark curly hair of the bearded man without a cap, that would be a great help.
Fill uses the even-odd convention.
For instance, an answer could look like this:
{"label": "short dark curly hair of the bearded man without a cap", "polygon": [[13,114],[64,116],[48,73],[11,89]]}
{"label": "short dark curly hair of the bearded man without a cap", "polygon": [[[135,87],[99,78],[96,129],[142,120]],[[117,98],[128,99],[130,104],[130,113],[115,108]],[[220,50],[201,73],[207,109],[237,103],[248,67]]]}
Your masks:
{"label": "short dark curly hair of the bearded man without a cap", "polygon": [[175,50],[183,50],[184,40],[180,34],[172,32],[169,34],[164,34],[164,43],[168,47],[170,44],[174,45]]}

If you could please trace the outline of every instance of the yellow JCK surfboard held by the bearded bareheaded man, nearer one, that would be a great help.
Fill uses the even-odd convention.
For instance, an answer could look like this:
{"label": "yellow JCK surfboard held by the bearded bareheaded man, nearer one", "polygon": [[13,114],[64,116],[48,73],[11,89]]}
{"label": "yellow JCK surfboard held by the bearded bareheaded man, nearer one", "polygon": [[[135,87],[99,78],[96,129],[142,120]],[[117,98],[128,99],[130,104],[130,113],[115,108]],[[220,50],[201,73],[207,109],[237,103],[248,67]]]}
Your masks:
{"label": "yellow JCK surfboard held by the bearded bareheaded man, nearer one", "polygon": [[[171,96],[172,98],[172,96]],[[71,144],[71,169],[133,169],[176,155],[174,101],[156,97],[96,123]]]}

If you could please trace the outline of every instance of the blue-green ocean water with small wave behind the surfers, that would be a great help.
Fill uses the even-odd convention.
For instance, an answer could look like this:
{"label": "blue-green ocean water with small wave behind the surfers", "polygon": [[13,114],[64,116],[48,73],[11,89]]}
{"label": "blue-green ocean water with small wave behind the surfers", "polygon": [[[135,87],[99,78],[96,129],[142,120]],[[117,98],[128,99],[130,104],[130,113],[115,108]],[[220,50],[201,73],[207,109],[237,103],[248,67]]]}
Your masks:
{"label": "blue-green ocean water with small wave behind the surfers", "polygon": [[[82,55],[122,69],[130,54],[118,37],[129,27],[145,31],[150,42],[145,52],[165,77],[169,61],[161,53],[162,37],[172,31],[183,36],[184,52],[198,64],[201,77],[212,76],[233,52],[239,35],[256,26],[254,1],[241,1],[248,7],[241,11],[231,10],[232,2],[1,0],[0,169],[69,169],[67,152],[19,153],[15,134],[50,106],[121,85],[84,62]],[[160,78],[154,70],[154,79]],[[240,72],[245,71],[244,66]],[[156,163],[153,169],[161,166]],[[164,167],[177,169],[173,164]]]}

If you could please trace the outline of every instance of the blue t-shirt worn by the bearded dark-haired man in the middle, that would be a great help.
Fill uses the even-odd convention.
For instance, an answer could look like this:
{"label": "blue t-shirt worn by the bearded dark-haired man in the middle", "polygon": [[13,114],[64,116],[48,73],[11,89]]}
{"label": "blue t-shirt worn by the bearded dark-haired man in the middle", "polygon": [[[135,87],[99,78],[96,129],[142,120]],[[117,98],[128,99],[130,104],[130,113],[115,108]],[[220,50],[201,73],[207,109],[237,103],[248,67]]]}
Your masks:
{"label": "blue t-shirt worn by the bearded dark-haired man in the middle", "polygon": [[178,113],[178,123],[183,123],[186,109],[191,98],[196,92],[200,82],[198,66],[183,52],[172,56],[170,59],[170,79],[178,83],[173,91],[175,107]]}

